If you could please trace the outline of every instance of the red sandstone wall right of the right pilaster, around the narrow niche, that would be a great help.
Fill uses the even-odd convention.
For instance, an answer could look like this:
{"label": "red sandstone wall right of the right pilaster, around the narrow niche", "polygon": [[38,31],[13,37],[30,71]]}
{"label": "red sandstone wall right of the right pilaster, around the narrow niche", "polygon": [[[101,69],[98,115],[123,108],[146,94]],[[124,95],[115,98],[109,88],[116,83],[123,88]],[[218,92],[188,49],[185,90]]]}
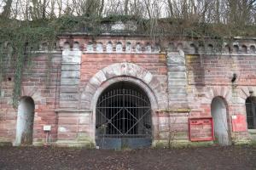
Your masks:
{"label": "red sandstone wall right of the right pilaster, around the narrow niche", "polygon": [[[191,116],[211,116],[211,102],[216,96],[224,99],[228,111],[229,131],[235,138],[247,138],[247,132],[234,133],[232,115],[245,115],[245,99],[256,85],[255,54],[222,56],[187,55],[189,106]],[[236,73],[236,82],[231,79]],[[254,93],[256,93],[254,91]],[[243,122],[247,127],[247,122]]]}

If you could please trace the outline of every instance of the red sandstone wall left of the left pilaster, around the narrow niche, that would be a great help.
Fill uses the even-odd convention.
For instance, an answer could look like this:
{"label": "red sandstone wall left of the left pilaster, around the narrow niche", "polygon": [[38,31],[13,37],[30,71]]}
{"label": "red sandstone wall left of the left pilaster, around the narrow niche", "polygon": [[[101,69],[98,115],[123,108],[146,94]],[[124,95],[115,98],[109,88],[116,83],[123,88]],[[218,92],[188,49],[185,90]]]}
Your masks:
{"label": "red sandstone wall left of the left pilaster, around the narrow niche", "polygon": [[[58,107],[58,84],[61,73],[61,54],[53,54],[51,62],[47,55],[40,54],[32,59],[31,68],[26,66],[22,78],[22,96],[31,96],[35,102],[33,141],[45,139],[43,126],[52,126],[52,139],[56,139],[56,114]],[[49,69],[50,65],[50,69]],[[49,76],[47,76],[49,74]],[[8,79],[11,78],[9,81]],[[9,73],[2,83],[0,98],[0,140],[14,142],[16,132],[17,109],[12,105],[14,75]]]}

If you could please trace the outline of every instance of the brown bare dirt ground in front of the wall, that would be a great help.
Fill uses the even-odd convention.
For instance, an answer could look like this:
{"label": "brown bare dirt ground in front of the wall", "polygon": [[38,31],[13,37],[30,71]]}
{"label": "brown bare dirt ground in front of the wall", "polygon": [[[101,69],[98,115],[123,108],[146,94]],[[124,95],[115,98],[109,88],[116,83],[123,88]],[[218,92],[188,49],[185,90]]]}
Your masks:
{"label": "brown bare dirt ground in front of the wall", "polygon": [[256,170],[256,147],[86,150],[0,147],[0,169],[214,169]]}

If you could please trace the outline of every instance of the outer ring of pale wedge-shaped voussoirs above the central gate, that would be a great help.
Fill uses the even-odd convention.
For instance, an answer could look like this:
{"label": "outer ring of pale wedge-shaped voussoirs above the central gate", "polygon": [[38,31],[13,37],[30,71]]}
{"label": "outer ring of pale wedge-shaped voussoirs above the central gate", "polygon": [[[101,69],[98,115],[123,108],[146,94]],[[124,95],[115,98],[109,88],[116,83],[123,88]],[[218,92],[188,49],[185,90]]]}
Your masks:
{"label": "outer ring of pale wedge-shaped voussoirs above the central gate", "polygon": [[90,78],[84,92],[81,94],[79,107],[81,108],[81,105],[85,105],[87,109],[90,109],[91,101],[94,94],[96,94],[96,90],[101,87],[102,83],[107,82],[114,77],[133,77],[139,79],[147,84],[148,88],[153,91],[157,101],[164,100],[163,94],[160,93],[162,89],[157,77],[154,77],[142,66],[132,63],[116,63],[108,65]]}

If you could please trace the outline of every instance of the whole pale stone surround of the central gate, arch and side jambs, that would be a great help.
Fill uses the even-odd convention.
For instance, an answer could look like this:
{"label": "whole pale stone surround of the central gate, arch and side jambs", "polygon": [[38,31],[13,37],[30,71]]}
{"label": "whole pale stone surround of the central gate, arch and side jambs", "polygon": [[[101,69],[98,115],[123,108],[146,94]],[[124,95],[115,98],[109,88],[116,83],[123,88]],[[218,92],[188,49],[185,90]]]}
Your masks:
{"label": "whole pale stone surround of the central gate, arch and side jambs", "polygon": [[[90,138],[95,141],[96,133],[96,102],[104,89],[115,82],[131,82],[142,88],[150,100],[152,109],[152,132],[157,120],[154,112],[167,109],[166,90],[160,85],[157,77],[139,65],[132,63],[117,63],[108,65],[90,78],[86,88],[80,95],[79,109],[91,111]],[[154,133],[153,133],[154,136]],[[153,138],[154,139],[154,138]],[[154,143],[154,141],[152,142]]]}

